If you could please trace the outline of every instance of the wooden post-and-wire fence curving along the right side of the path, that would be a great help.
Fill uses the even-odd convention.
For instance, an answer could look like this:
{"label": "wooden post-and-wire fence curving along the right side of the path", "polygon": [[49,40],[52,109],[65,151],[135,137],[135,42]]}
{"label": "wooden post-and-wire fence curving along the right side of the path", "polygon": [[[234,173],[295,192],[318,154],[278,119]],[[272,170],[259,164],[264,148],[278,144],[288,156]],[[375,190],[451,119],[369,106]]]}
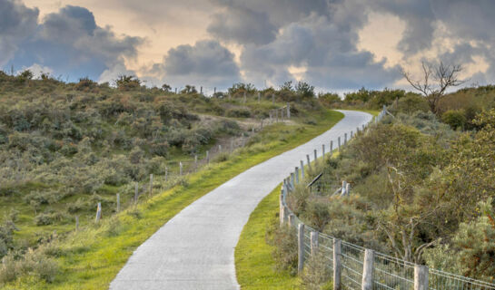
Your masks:
{"label": "wooden post-and-wire fence curving along the right side of the path", "polygon": [[[374,119],[375,123],[381,121],[387,113],[384,107]],[[362,130],[364,129],[363,126]],[[351,136],[353,136],[352,132]],[[341,139],[339,138],[339,140]],[[344,137],[344,143],[346,142],[347,137]],[[322,148],[323,157],[324,145]],[[340,149],[341,142],[339,141],[336,150]],[[314,160],[317,160],[317,151],[314,150],[314,152]],[[332,152],[332,144],[329,152]],[[307,165],[311,168],[309,155],[307,155],[307,160]],[[299,177],[300,172],[301,179]],[[288,225],[293,228],[292,233],[298,241],[298,270],[300,272],[304,262],[316,251],[319,251],[327,261],[326,266],[332,271],[334,290],[495,290],[495,284],[416,265],[325,235],[305,225],[287,205],[288,195],[298,183],[302,182],[300,180],[303,177],[304,162],[301,160],[300,170],[296,168],[288,178],[283,180],[280,196],[280,223],[281,226]],[[317,182],[318,180],[312,180],[312,185],[318,185]],[[348,186],[342,185],[339,190],[342,192],[341,196],[349,195]]]}

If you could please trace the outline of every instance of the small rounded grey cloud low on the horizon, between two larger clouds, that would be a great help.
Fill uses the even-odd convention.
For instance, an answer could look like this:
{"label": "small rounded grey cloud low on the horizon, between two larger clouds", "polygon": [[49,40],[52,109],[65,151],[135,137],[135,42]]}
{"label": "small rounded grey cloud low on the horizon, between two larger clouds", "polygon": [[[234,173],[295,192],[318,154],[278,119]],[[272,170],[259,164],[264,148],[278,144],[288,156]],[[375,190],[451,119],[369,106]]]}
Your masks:
{"label": "small rounded grey cloud low on the horizon, between two larger clouds", "polygon": [[241,80],[233,53],[217,41],[203,40],[194,45],[179,45],[146,72],[145,79],[154,84],[167,82],[173,86],[228,87]]}

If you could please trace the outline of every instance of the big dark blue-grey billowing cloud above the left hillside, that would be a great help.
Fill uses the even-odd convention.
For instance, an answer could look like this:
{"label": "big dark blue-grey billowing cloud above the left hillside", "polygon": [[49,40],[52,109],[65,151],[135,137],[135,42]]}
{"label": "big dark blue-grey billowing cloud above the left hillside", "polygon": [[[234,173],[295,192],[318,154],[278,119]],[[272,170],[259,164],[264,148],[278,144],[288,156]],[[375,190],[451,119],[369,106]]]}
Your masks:
{"label": "big dark blue-grey billowing cloud above the left hillside", "polygon": [[18,43],[9,63],[15,67],[36,63],[73,81],[82,76],[98,80],[105,72],[102,81],[111,81],[119,73],[110,72],[125,67],[124,58],[134,58],[141,43],[140,37],[118,37],[109,27],[96,25],[94,14],[86,8],[67,5],[47,14],[43,23]]}

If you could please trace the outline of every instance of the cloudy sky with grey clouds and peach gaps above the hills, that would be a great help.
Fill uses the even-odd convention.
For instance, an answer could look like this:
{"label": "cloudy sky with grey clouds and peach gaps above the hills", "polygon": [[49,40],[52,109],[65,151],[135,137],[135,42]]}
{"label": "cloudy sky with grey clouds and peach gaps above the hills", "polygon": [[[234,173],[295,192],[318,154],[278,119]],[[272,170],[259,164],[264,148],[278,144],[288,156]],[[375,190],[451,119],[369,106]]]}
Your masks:
{"label": "cloudy sky with grey clouds and peach gaps above the hills", "polygon": [[401,67],[442,60],[485,84],[495,80],[494,11],[491,0],[0,0],[0,68],[342,92],[404,87]]}

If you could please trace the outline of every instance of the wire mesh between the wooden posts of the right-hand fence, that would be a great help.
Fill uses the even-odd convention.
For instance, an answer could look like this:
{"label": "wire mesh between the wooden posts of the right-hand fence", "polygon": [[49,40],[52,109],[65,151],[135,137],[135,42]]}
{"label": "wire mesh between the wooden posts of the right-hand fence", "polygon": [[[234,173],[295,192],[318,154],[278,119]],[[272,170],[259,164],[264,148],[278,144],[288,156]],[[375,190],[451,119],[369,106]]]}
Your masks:
{"label": "wire mesh between the wooden posts of the right-hand fence", "polygon": [[[387,111],[384,109],[375,119],[380,121]],[[376,122],[375,121],[375,122]],[[328,193],[338,187],[332,186],[329,180],[322,179],[314,183],[312,190],[316,194]],[[289,214],[293,214],[291,208],[287,206],[287,195],[292,191],[291,187],[285,187],[282,204],[288,209]],[[294,237],[297,237],[299,224],[302,220],[293,216],[292,229]],[[303,252],[304,260],[311,256],[311,232],[316,231],[312,227],[304,227]],[[333,270],[333,241],[323,233],[318,236],[318,250],[323,253],[327,260],[327,266]],[[365,248],[351,243],[341,242],[341,273],[342,286],[344,289],[361,289],[362,269]],[[414,267],[411,262],[374,252],[373,256],[373,289],[377,290],[412,290],[414,289]],[[429,269],[429,289],[430,290],[495,290],[495,284],[484,282],[469,277],[443,272],[441,270]]]}

